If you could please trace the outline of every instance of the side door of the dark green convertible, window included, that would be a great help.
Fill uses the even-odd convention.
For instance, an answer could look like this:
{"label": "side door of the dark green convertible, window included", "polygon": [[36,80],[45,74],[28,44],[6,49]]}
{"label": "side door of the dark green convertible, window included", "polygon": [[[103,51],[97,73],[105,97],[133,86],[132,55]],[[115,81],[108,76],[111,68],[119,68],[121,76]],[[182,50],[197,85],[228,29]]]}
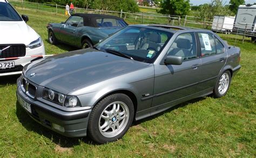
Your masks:
{"label": "side door of the dark green convertible, window included", "polygon": [[78,26],[81,25],[81,21],[83,22],[83,18],[79,16],[71,16],[66,20],[65,25],[60,28],[62,32],[60,38],[63,42],[75,45],[77,38],[76,31]]}

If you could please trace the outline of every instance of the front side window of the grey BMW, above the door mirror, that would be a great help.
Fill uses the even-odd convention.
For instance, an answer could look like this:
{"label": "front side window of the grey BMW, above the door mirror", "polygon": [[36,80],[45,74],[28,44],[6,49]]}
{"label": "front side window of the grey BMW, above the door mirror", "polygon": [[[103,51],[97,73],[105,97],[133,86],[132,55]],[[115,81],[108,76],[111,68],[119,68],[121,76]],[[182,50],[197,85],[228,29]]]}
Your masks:
{"label": "front side window of the grey BMW, above the door mirror", "polygon": [[167,55],[183,57],[184,60],[197,58],[194,33],[180,34],[172,43]]}

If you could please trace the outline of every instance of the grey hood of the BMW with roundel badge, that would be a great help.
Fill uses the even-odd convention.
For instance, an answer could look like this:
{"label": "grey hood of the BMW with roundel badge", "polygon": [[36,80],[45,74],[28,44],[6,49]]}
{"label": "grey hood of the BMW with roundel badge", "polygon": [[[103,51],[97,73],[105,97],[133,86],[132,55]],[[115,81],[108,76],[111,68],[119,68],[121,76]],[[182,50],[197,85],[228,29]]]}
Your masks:
{"label": "grey hood of the BMW with roundel badge", "polygon": [[[35,61],[25,77],[37,85],[68,94],[78,87],[149,64],[94,49],[77,50]],[[36,73],[31,77],[32,73]]]}

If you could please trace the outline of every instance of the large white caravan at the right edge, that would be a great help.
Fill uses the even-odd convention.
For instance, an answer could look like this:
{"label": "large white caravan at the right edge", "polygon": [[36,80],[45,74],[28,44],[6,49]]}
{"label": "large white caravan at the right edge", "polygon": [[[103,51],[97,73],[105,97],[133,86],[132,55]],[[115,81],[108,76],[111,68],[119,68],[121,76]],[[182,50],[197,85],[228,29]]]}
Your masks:
{"label": "large white caravan at the right edge", "polygon": [[256,40],[256,5],[239,5],[235,17],[234,33],[245,33],[246,36]]}

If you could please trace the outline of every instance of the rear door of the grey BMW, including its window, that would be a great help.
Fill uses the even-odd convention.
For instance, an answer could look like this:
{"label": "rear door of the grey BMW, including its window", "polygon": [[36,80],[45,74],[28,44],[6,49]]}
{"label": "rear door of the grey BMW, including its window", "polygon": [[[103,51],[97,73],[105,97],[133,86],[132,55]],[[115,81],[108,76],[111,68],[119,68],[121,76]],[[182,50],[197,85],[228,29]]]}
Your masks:
{"label": "rear door of the grey BMW, including its window", "polygon": [[212,88],[226,63],[224,45],[210,32],[197,32],[201,52],[199,91]]}

